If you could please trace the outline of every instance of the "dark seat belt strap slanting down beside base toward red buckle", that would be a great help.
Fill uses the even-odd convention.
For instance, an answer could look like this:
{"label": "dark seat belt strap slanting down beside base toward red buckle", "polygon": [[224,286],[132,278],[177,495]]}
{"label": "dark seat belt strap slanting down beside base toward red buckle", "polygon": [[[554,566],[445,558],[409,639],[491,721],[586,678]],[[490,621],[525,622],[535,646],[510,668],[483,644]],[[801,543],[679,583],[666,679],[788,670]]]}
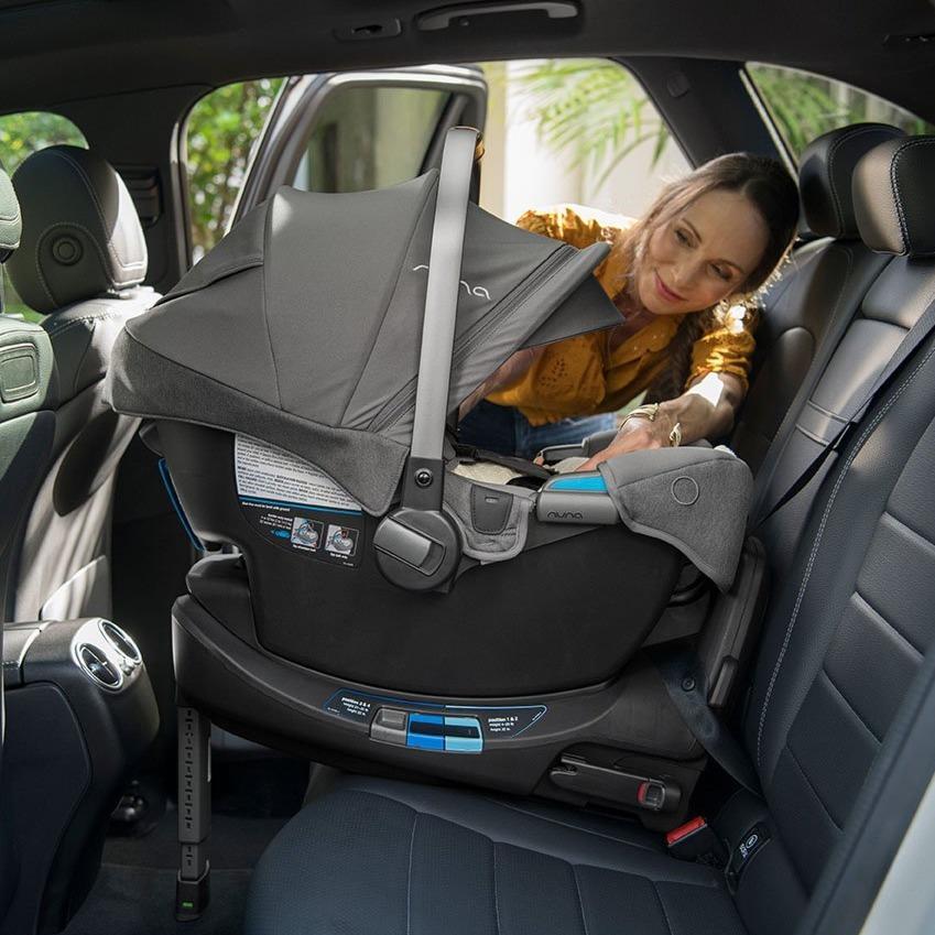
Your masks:
{"label": "dark seat belt strap slanting down beside base toward red buckle", "polygon": [[700,663],[692,653],[672,653],[656,660],[668,697],[705,752],[739,785],[762,797],[750,758],[721,719],[711,710]]}

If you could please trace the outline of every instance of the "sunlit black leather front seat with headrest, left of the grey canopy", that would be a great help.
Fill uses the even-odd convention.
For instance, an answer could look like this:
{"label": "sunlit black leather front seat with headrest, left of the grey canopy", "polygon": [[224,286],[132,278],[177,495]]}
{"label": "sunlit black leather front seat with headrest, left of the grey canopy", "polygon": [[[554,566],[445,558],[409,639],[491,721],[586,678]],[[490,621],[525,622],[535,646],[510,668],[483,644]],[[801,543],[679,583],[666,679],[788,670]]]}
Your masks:
{"label": "sunlit black leather front seat with headrest, left of the grey canopy", "polygon": [[19,546],[11,616],[107,617],[116,468],[138,423],[104,402],[102,379],[123,324],[159,296],[141,285],[145,239],[106,160],[51,146],[23,162],[13,185],[24,224],[9,273],[23,301],[45,316],[55,437],[37,470],[42,483]]}

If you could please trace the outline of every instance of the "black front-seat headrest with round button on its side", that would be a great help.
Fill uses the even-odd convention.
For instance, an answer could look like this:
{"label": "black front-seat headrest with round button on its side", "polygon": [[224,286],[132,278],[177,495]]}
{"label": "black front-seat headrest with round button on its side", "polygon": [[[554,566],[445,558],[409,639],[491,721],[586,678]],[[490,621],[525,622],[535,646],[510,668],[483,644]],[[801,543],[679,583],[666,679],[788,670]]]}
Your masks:
{"label": "black front-seat headrest with round button on its side", "polygon": [[30,307],[112,295],[146,274],[146,241],[123,180],[77,146],[33,153],[14,173],[24,224],[10,279]]}

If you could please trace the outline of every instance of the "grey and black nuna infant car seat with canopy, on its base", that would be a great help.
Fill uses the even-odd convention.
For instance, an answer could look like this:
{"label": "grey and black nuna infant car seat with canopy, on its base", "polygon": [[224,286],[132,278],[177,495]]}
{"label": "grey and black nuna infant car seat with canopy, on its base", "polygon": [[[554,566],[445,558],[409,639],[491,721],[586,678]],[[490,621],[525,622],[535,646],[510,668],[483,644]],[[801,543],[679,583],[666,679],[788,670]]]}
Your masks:
{"label": "grey and black nuna infant car seat with canopy, on its base", "polygon": [[[115,409],[154,421],[194,534],[238,553],[176,605],[180,689],[267,742],[562,743],[619,699],[686,558],[733,578],[751,480],[730,452],[491,483],[446,434],[519,348],[619,322],[607,244],[469,202],[476,142],[456,128],[441,173],[385,191],[281,189],[118,339]],[[425,699],[417,729],[374,727],[392,693]],[[437,713],[465,699],[464,724]]]}

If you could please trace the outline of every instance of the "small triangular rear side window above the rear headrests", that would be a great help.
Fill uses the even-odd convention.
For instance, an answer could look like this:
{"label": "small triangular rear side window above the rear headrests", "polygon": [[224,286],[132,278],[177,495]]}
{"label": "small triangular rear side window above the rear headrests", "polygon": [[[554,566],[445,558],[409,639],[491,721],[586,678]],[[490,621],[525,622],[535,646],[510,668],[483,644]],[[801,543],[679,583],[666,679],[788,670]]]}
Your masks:
{"label": "small triangular rear side window above the rear headrests", "polygon": [[796,161],[816,137],[850,123],[890,123],[906,133],[935,131],[902,107],[822,75],[757,62],[747,64],[747,75]]}

